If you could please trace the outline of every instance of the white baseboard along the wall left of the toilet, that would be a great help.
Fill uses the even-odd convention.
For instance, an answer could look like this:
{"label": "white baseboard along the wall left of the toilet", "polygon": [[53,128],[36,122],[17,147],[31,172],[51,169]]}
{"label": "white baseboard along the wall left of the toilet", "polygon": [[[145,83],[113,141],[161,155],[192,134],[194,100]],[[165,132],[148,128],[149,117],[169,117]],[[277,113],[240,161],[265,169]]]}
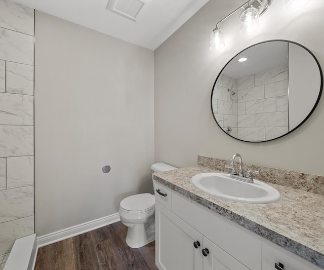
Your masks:
{"label": "white baseboard along the wall left of the toilet", "polygon": [[90,230],[112,224],[119,220],[120,220],[119,213],[115,213],[110,216],[98,218],[66,229],[58,230],[57,232],[45,236],[37,237],[37,247],[38,248],[44,247],[73,236],[84,234],[90,232]]}

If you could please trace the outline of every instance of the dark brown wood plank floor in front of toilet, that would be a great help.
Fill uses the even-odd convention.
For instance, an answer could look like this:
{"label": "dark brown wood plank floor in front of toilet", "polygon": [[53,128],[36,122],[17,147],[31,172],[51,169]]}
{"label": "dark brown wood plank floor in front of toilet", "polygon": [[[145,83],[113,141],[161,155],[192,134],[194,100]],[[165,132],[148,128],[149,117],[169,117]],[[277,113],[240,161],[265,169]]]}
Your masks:
{"label": "dark brown wood plank floor in front of toilet", "polygon": [[119,222],[38,249],[35,270],[152,270],[155,241],[141,248],[126,244]]}

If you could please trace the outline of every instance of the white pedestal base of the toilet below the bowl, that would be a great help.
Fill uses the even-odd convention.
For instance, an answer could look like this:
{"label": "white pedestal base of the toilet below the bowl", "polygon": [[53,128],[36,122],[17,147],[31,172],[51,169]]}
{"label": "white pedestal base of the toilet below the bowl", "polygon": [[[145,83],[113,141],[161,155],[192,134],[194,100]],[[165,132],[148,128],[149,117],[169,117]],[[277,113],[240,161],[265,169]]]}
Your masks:
{"label": "white pedestal base of the toilet below the bowl", "polygon": [[140,248],[155,240],[155,230],[145,229],[144,224],[134,224],[127,229],[126,243],[131,248]]}

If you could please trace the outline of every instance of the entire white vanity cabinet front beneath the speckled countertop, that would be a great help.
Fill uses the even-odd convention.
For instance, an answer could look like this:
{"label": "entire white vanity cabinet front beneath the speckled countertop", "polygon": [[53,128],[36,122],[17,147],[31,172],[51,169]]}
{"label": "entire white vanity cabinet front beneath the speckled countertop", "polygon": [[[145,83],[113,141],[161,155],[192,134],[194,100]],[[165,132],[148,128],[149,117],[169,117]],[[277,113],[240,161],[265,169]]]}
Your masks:
{"label": "entire white vanity cabinet front beneath the speckled countertop", "polygon": [[284,270],[322,269],[154,182],[154,188],[166,195],[155,195],[155,264],[159,270],[280,270],[275,263],[283,264]]}

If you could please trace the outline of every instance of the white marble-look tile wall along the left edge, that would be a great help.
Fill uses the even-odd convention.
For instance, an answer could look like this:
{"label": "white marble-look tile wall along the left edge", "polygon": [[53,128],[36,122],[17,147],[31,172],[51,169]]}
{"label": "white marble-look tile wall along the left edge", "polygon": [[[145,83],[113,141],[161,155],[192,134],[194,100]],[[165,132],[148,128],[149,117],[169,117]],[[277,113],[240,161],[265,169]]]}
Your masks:
{"label": "white marble-look tile wall along the left edge", "polygon": [[34,10],[0,0],[0,257],[34,233]]}

